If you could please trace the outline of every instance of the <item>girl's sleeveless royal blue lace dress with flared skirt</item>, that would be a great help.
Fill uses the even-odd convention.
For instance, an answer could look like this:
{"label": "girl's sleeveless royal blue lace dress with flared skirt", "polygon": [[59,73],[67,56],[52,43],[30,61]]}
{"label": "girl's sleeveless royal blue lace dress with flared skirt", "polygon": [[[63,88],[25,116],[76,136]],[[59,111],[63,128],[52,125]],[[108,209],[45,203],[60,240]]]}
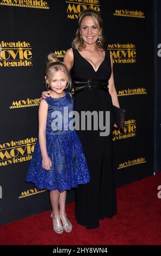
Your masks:
{"label": "girl's sleeveless royal blue lace dress with flared skirt", "polygon": [[[64,97],[58,99],[48,98],[46,100],[48,104],[46,148],[52,161],[51,170],[42,168],[40,145],[37,141],[26,179],[28,182],[33,182],[39,189],[46,188],[63,192],[90,181],[82,144],[77,132],[70,129],[72,118],[67,115],[73,111],[73,101],[68,92],[65,94]],[[63,117],[62,122],[60,113]],[[54,121],[56,119],[57,122]]]}

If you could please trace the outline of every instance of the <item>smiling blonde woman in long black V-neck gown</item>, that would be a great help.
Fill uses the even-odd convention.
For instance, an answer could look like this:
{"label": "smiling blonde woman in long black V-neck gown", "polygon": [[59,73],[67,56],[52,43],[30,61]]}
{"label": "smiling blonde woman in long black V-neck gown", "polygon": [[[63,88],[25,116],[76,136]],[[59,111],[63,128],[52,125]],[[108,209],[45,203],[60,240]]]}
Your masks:
{"label": "smiling blonde woman in long black V-neck gown", "polygon": [[116,214],[113,105],[119,107],[119,101],[113,59],[109,51],[103,50],[103,42],[101,15],[92,9],[85,10],[79,17],[72,48],[64,57],[75,88],[75,111],[79,115],[81,111],[103,111],[104,117],[105,112],[110,111],[108,136],[100,136],[99,129],[77,131],[91,175],[90,182],[79,185],[76,191],[76,219],[86,228],[97,228],[100,219]]}

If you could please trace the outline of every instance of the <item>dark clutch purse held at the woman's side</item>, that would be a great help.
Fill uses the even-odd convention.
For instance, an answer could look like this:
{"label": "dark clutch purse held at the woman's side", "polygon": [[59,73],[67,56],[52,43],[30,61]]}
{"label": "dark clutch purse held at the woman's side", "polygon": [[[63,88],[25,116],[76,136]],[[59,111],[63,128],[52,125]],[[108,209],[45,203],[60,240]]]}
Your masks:
{"label": "dark clutch purse held at the woman's side", "polygon": [[123,129],[125,121],[125,109],[113,105],[113,111],[114,123],[117,125],[117,127]]}

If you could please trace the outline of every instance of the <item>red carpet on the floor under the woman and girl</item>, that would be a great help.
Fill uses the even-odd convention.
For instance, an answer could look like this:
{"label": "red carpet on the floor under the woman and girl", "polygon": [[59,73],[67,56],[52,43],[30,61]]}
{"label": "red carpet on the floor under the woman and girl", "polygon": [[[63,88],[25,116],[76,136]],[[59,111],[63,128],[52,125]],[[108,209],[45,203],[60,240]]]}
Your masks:
{"label": "red carpet on the floor under the woman and girl", "polygon": [[[157,197],[161,173],[117,188],[117,215],[86,229],[75,221],[75,204],[66,207],[73,223],[70,234],[52,230],[49,212],[4,225],[1,245],[160,245],[161,199]],[[92,212],[91,212],[92,214]]]}

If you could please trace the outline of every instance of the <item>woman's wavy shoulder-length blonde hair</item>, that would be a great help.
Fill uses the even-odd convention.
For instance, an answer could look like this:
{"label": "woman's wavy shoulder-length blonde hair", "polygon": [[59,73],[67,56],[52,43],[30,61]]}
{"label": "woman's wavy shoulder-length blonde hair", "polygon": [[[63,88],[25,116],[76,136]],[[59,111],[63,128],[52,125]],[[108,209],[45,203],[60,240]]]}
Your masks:
{"label": "woman's wavy shoulder-length blonde hair", "polygon": [[83,39],[82,39],[82,42],[80,41],[80,25],[81,25],[82,20],[86,16],[91,16],[94,19],[98,29],[100,29],[101,42],[96,41],[96,46],[100,49],[103,49],[104,41],[105,41],[103,38],[103,35],[102,35],[103,20],[102,20],[100,13],[98,13],[98,11],[92,10],[92,9],[86,9],[80,14],[79,19],[78,19],[78,28],[76,31],[75,39],[72,41],[72,47],[76,48],[78,51],[82,51],[82,49],[84,49],[86,47],[84,45]]}

